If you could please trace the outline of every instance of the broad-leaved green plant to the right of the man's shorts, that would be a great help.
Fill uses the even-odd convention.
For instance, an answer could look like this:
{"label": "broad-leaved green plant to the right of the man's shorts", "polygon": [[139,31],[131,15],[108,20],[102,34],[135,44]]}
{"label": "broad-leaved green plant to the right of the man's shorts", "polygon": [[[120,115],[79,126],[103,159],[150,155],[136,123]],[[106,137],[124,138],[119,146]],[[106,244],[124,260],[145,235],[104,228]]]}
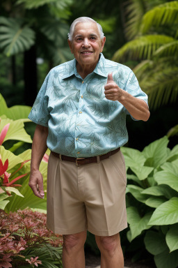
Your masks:
{"label": "broad-leaved green plant to the right of the man's shorts", "polygon": [[[156,267],[178,265],[178,147],[168,137],[142,152],[122,147],[127,166],[127,239],[142,237]],[[143,170],[149,168],[143,177]],[[149,230],[148,230],[149,229]],[[171,253],[170,253],[171,252]],[[171,258],[170,258],[171,256]]]}

